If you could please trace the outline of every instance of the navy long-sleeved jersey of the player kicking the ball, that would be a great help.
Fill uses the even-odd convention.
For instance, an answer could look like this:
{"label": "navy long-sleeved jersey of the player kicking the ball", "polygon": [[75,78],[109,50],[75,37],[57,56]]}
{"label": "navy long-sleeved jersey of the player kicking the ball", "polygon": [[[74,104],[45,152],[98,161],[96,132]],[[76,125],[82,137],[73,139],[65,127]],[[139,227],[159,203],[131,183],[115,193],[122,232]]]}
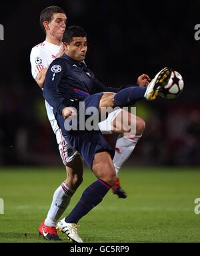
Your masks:
{"label": "navy long-sleeved jersey of the player kicking the ball", "polygon": [[65,107],[77,108],[77,102],[98,92],[119,92],[125,88],[107,87],[87,68],[85,62],[81,63],[71,59],[68,55],[55,59],[47,70],[43,96],[59,112]]}

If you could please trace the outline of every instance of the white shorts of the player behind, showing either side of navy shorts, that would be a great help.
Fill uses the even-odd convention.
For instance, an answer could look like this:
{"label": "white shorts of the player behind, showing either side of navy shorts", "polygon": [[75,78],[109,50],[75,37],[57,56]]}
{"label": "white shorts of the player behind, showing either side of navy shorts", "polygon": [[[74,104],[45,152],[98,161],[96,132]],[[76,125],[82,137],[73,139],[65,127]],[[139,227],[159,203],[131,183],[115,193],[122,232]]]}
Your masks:
{"label": "white shorts of the player behind, showing either side of navy shorts", "polygon": [[[111,112],[104,121],[99,122],[99,130],[101,130],[102,134],[112,134],[111,122],[121,111],[122,109],[115,110]],[[59,144],[59,152],[63,160],[63,164],[67,165],[67,163],[71,162],[75,156],[79,154],[79,152],[77,152],[77,150],[73,149],[71,145],[67,143],[63,137],[61,129],[55,131],[55,136],[57,139],[57,144]]]}

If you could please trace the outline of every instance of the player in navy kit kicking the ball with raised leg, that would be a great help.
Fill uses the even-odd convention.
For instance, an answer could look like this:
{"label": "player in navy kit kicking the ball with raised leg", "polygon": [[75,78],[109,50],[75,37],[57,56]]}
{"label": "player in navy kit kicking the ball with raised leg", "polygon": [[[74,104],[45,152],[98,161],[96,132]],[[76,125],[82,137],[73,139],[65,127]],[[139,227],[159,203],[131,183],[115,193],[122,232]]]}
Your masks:
{"label": "player in navy kit kicking the ball with raised leg", "polygon": [[[79,26],[71,26],[67,29],[63,41],[65,42],[65,55],[55,59],[49,66],[43,96],[53,107],[55,118],[65,140],[81,154],[97,177],[97,180],[85,189],[71,213],[57,224],[57,229],[71,240],[82,243],[83,240],[77,233],[78,221],[101,203],[103,197],[116,182],[117,176],[112,161],[115,150],[107,143],[101,132],[99,124],[105,120],[99,122],[99,130],[79,130],[79,122],[78,129],[66,130],[65,119],[77,116],[79,120],[80,102],[84,103],[85,110],[95,108],[96,116],[99,118],[99,113],[105,107],[131,106],[137,100],[144,98],[155,100],[161,87],[169,80],[171,70],[164,68],[150,83],[149,77],[144,74],[138,78],[136,86],[107,88],[85,65],[84,59],[87,53],[85,31]],[[93,88],[97,93],[91,95]],[[118,116],[120,118],[117,120]],[[86,114],[85,120],[87,118],[89,116]],[[123,125],[119,120],[123,122]],[[128,126],[130,120],[133,120],[131,123],[131,126],[135,127],[133,130]],[[135,148],[135,144],[145,129],[145,122],[141,118],[123,109],[117,110],[117,114],[113,114],[107,122],[110,123],[111,133],[126,134],[123,136],[125,142],[121,143],[127,146],[132,144],[132,148]]]}

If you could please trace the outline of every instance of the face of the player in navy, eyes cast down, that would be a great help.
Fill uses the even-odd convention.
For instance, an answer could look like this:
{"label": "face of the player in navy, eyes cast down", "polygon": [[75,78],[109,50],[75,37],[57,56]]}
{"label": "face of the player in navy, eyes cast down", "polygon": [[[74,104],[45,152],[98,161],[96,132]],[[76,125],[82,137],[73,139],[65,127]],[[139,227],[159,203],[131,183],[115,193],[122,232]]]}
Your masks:
{"label": "face of the player in navy, eyes cast down", "polygon": [[67,55],[76,61],[83,61],[87,53],[87,38],[73,37],[71,43],[67,44]]}

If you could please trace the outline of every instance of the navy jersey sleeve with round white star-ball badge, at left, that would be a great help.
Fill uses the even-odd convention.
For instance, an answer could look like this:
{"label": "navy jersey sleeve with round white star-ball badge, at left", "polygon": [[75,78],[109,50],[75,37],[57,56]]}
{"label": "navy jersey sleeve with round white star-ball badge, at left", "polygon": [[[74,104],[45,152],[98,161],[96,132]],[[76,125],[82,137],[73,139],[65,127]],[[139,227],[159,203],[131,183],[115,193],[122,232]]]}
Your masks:
{"label": "navy jersey sleeve with round white star-ball badge, at left", "polygon": [[55,59],[47,70],[43,86],[43,97],[53,107],[53,110],[60,114],[63,108],[65,108],[65,98],[60,93],[59,84],[61,79],[66,76],[66,73],[65,61],[61,58]]}

